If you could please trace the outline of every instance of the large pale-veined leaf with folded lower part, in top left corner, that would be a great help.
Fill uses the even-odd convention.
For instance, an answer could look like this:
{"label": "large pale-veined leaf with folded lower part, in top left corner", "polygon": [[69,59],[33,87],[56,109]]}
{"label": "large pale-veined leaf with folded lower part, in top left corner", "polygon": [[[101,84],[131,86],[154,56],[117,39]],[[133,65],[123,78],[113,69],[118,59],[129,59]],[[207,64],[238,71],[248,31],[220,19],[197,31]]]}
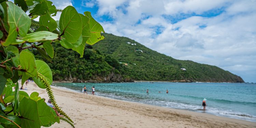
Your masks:
{"label": "large pale-veined leaf with folded lower part, in top left corner", "polygon": [[31,19],[19,6],[16,6],[12,2],[6,2],[6,4],[8,6],[7,16],[10,28],[8,37],[2,43],[4,46],[21,43],[20,41],[16,41],[17,35],[25,36],[31,25]]}

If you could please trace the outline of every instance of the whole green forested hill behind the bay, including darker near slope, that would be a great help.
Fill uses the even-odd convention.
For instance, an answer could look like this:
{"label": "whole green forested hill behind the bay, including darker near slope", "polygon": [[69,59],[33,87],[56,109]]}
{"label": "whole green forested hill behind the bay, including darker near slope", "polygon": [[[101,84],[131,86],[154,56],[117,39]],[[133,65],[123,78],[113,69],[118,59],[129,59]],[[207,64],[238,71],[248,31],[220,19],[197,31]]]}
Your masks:
{"label": "whole green forested hill behind the bay, including darker near slope", "polygon": [[103,35],[104,40],[86,46],[83,58],[53,43],[53,63],[48,62],[53,79],[72,82],[244,82],[241,77],[216,66],[176,60],[129,38]]}

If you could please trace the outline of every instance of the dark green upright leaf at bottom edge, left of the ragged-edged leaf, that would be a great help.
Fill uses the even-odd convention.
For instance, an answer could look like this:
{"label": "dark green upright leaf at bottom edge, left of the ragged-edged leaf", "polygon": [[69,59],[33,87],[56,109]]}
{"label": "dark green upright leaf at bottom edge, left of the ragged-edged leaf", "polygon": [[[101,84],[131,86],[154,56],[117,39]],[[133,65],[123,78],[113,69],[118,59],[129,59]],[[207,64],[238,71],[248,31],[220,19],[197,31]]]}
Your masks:
{"label": "dark green upright leaf at bottom edge, left of the ragged-edged leaf", "polygon": [[37,102],[23,98],[19,103],[19,114],[22,128],[40,128]]}

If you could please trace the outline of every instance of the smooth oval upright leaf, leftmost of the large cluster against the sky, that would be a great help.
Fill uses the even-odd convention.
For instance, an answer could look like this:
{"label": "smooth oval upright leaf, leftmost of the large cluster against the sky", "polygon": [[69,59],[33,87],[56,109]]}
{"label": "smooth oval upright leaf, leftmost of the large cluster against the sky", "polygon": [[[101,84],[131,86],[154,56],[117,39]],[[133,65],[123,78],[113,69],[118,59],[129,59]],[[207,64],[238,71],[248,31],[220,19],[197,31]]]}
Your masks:
{"label": "smooth oval upright leaf, leftmost of the large cluster against the sky", "polygon": [[60,33],[70,43],[75,43],[82,34],[82,19],[73,6],[67,6],[60,15]]}

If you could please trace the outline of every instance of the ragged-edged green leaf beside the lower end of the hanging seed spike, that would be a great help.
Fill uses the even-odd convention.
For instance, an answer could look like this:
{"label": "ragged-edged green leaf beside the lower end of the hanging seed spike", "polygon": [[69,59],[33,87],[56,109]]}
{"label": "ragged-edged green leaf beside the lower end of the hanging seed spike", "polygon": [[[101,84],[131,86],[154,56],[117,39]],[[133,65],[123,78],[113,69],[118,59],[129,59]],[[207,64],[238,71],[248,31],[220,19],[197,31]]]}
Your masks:
{"label": "ragged-edged green leaf beside the lower end of the hanging seed spike", "polygon": [[49,127],[55,122],[59,123],[59,116],[56,115],[56,112],[48,106],[43,99],[37,101],[38,104],[38,114],[40,119],[41,126]]}

